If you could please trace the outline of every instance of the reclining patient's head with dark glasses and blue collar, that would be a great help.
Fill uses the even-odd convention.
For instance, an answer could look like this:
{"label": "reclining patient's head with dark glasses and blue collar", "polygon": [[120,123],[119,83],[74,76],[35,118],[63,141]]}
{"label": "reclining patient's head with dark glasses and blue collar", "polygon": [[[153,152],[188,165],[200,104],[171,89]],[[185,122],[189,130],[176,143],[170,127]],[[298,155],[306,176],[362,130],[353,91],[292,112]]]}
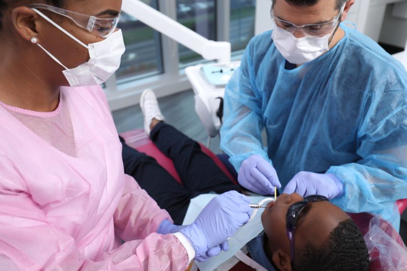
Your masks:
{"label": "reclining patient's head with dark glasses and blue collar", "polygon": [[368,270],[358,226],[325,197],[282,194],[267,206],[264,232],[247,244],[267,270]]}

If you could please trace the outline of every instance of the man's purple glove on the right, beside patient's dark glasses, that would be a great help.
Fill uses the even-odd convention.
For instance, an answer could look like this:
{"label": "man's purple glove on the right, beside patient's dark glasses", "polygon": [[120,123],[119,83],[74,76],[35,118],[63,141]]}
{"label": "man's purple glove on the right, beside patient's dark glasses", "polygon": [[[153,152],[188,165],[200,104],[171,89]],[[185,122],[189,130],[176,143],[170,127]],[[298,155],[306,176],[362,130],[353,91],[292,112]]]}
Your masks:
{"label": "man's purple glove on the right, beside patient's dark glasses", "polygon": [[301,171],[288,182],[283,193],[297,193],[303,197],[322,195],[333,199],[342,196],[343,190],[343,183],[334,174]]}

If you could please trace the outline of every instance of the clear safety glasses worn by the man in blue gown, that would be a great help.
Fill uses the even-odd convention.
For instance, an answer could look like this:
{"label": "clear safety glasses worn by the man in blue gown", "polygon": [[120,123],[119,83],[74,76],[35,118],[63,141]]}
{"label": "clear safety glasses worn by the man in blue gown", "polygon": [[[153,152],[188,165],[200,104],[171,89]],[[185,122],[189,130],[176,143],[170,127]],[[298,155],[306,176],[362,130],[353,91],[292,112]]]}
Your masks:
{"label": "clear safety glasses worn by the man in blue gown", "polygon": [[330,34],[333,29],[335,28],[339,18],[342,15],[342,12],[345,8],[345,5],[342,6],[338,15],[334,17],[333,20],[325,23],[317,23],[317,24],[304,24],[304,25],[296,25],[291,22],[287,22],[281,20],[274,16],[273,7],[270,11],[270,16],[274,25],[280,29],[290,32],[291,34],[295,34],[296,32],[301,32],[305,37],[321,37]]}

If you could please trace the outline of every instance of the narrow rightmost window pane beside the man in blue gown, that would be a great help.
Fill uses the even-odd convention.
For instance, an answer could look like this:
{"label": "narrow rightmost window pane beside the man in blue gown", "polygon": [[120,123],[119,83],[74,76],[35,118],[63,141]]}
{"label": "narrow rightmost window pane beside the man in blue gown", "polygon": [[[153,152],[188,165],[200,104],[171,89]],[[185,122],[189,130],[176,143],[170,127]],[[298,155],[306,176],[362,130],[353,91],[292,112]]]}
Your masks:
{"label": "narrow rightmost window pane beside the man in blue gown", "polygon": [[254,36],[256,0],[230,0],[230,43],[232,51],[246,48]]}

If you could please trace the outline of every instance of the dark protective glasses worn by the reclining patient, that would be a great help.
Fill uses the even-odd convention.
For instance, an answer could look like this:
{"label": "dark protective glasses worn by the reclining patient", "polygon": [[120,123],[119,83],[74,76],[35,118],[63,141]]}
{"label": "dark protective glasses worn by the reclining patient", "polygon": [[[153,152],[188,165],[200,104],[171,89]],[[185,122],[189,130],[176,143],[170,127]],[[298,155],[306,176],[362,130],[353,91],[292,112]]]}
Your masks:
{"label": "dark protective glasses worn by the reclining patient", "polygon": [[301,211],[307,206],[308,202],[329,201],[327,197],[321,195],[311,195],[305,197],[302,201],[296,202],[288,207],[287,215],[285,216],[287,237],[291,250],[291,264],[294,266],[294,233],[296,231],[296,223]]}

